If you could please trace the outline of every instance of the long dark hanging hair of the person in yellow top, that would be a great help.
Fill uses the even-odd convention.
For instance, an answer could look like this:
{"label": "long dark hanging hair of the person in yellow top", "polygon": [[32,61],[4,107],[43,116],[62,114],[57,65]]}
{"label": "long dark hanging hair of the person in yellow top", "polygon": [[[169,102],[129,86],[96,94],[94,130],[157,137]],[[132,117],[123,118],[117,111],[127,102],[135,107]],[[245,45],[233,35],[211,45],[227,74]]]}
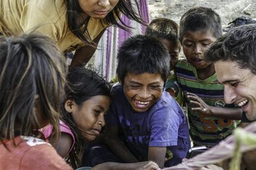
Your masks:
{"label": "long dark hanging hair of the person in yellow top", "polygon": [[[107,25],[114,25],[121,29],[129,31],[131,28],[129,25],[126,25],[121,20],[121,13],[123,15],[126,15],[127,18],[130,20],[135,20],[136,22],[141,23],[142,25],[146,25],[146,23],[143,21],[142,17],[140,16],[140,10],[139,10],[139,4],[136,0],[134,0],[135,5],[137,6],[137,9],[139,11],[139,14],[135,12],[132,5],[132,0],[119,0],[117,2],[117,5],[114,7],[113,10],[109,12],[109,14],[101,20],[101,23],[106,23]],[[82,21],[81,14],[83,14],[82,9],[79,6],[78,0],[66,0],[66,6],[67,6],[67,25],[69,26],[69,30],[72,31],[72,33],[79,39],[81,39],[83,42],[87,43],[90,46],[95,47],[95,43],[90,38],[90,35],[88,34],[87,25],[90,20],[90,17],[88,17],[85,21]],[[120,23],[119,23],[120,22]],[[80,24],[82,23],[82,25]]]}

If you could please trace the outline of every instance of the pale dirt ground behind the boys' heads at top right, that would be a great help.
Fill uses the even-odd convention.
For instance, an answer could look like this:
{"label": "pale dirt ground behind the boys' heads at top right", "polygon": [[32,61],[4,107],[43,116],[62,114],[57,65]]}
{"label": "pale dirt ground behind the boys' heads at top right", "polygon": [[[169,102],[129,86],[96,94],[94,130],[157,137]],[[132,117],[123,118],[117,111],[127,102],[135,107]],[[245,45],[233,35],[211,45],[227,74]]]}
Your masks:
{"label": "pale dirt ground behind the boys' heads at top right", "polygon": [[179,23],[184,12],[199,6],[215,10],[221,16],[223,26],[240,16],[256,20],[256,0],[148,0],[151,20],[166,17]]}

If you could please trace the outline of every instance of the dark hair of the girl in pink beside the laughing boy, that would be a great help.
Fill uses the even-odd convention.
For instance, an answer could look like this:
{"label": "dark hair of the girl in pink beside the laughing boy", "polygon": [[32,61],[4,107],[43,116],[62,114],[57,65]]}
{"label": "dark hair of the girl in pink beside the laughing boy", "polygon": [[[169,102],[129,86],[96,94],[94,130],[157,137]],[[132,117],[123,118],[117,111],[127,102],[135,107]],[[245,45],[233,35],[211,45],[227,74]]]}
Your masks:
{"label": "dark hair of the girl in pink beside the laughing boy", "polygon": [[87,141],[83,139],[81,130],[73,121],[70,113],[64,107],[67,100],[72,99],[79,106],[96,95],[110,95],[110,86],[95,71],[84,67],[72,67],[67,75],[66,100],[62,104],[62,121],[70,127],[75,136],[74,148],[69,153],[69,163],[73,168],[79,168]]}

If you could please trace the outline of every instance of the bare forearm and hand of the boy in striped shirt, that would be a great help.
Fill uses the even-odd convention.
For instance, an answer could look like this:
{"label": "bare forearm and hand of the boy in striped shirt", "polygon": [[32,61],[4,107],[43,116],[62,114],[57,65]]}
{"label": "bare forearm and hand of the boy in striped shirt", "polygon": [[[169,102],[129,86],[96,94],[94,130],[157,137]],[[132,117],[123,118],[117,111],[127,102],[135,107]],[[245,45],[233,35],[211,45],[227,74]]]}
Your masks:
{"label": "bare forearm and hand of the boy in striped shirt", "polygon": [[194,111],[200,111],[201,113],[209,116],[215,116],[224,119],[241,119],[241,108],[219,108],[212,107],[203,102],[203,100],[194,93],[187,92],[187,98],[189,99],[189,105]]}

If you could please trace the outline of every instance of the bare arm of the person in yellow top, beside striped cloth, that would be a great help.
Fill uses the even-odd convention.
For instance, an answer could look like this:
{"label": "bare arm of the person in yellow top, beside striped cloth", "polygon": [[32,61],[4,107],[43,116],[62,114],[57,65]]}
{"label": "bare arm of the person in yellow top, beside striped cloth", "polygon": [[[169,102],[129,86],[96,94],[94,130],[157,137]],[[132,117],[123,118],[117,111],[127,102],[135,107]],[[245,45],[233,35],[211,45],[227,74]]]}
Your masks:
{"label": "bare arm of the person in yellow top, beside striped cloth", "polygon": [[[95,42],[96,46],[98,46],[100,38],[105,32],[105,30],[106,29],[102,30],[100,34],[98,34],[98,36],[96,36],[96,38],[93,39],[93,42]],[[75,55],[71,62],[71,66],[75,67],[82,63],[87,63],[92,58],[95,51],[96,51],[96,47],[91,47],[91,46],[81,47],[80,49],[75,51]]]}

